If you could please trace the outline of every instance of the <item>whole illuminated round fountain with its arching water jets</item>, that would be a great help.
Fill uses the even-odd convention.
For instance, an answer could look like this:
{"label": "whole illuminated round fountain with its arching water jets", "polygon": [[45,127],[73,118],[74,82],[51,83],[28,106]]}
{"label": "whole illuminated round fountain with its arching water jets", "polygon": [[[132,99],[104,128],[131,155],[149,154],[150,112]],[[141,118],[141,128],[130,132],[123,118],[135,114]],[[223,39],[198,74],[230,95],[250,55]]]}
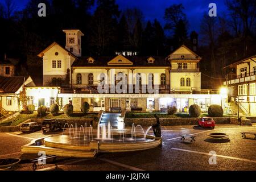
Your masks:
{"label": "whole illuminated round fountain with its arching water jets", "polygon": [[[54,135],[36,139],[22,147],[24,153],[37,153],[46,151],[47,155],[93,157],[97,152],[127,152],[154,148],[162,143],[162,138],[148,135],[152,127],[146,132],[141,125],[131,126],[128,129],[113,129],[110,122],[108,126],[98,123],[97,131],[85,124],[78,129],[77,123],[65,123],[62,135]],[[88,133],[88,136],[87,136]],[[42,145],[35,145],[36,142]],[[61,150],[60,150],[61,149]]]}

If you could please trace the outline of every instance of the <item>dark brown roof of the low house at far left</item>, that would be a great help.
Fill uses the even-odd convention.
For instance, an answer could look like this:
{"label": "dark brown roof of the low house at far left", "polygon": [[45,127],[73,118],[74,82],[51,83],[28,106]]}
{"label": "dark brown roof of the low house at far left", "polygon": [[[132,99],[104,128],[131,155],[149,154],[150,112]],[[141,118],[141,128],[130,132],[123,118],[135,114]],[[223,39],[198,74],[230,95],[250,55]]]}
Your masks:
{"label": "dark brown roof of the low house at far left", "polygon": [[15,93],[22,86],[24,81],[30,77],[13,76],[13,77],[0,77],[0,93]]}

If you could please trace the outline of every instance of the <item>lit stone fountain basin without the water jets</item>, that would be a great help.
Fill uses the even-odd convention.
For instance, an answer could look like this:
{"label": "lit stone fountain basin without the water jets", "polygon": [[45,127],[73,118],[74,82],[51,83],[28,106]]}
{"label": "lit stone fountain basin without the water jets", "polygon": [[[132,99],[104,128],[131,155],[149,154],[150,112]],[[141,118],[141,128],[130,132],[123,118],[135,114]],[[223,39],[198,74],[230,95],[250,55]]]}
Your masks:
{"label": "lit stone fountain basin without the water jets", "polygon": [[[69,139],[67,135],[50,136],[32,141],[30,144],[22,146],[22,152],[28,154],[38,154],[45,151],[47,155],[57,155],[77,158],[93,158],[98,152],[129,152],[147,150],[158,147],[162,143],[162,138],[155,138],[152,135],[137,135],[136,140],[131,140],[130,135],[126,134],[126,139],[118,140],[119,134],[113,134],[115,140],[96,140],[84,141],[82,138]],[[38,140],[42,141],[41,146],[36,146]]]}

